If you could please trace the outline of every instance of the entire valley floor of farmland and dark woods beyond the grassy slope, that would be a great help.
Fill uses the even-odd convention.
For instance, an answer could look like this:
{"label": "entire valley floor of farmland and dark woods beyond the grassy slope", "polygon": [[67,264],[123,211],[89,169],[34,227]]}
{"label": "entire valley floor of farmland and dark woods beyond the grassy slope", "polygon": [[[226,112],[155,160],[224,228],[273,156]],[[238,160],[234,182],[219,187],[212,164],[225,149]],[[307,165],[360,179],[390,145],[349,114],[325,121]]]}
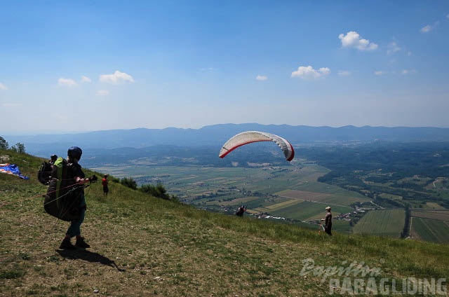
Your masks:
{"label": "entire valley floor of farmland and dark woods beyond the grassy slope", "polygon": [[[398,237],[406,216],[415,228],[427,219],[449,221],[449,167],[442,153],[447,144],[304,145],[302,158],[292,163],[248,163],[243,160],[252,152],[246,152],[237,158],[241,162],[225,165],[235,167],[221,167],[225,163],[215,162],[215,153],[203,161],[183,150],[152,158],[130,151],[133,158],[116,155],[123,162],[94,160],[93,170],[111,174],[112,181],[132,177],[138,186],[160,183],[180,202],[224,214],[246,205],[248,216],[313,226],[330,206],[337,232]],[[416,238],[425,237],[407,226]]]}

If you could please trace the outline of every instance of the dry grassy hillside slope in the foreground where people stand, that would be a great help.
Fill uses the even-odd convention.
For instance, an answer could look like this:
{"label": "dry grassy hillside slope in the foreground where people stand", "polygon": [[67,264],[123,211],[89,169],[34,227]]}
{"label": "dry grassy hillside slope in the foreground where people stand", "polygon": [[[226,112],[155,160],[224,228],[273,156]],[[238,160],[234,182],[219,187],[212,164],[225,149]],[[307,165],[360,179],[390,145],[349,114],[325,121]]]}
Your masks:
{"label": "dry grassy hillside slope in the foreground where people stand", "polygon": [[46,187],[35,178],[41,160],[11,151],[0,156],[30,177],[0,174],[0,296],[328,296],[328,279],[322,282],[319,268],[307,273],[307,259],[322,268],[363,262],[382,270],[377,281],[449,277],[447,245],[328,237],[201,211],[119,184],[111,184],[107,198],[99,183],[86,190],[81,228],[91,248],[62,251],[68,223],[43,211]]}

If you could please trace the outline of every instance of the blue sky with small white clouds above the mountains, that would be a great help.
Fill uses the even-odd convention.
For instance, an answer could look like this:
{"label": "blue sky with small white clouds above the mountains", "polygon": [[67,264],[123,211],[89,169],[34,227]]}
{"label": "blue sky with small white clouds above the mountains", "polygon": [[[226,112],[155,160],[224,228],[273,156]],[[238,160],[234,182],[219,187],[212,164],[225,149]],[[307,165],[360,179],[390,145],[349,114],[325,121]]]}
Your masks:
{"label": "blue sky with small white clouds above the mountains", "polygon": [[0,134],[449,127],[449,1],[1,1],[0,27]]}

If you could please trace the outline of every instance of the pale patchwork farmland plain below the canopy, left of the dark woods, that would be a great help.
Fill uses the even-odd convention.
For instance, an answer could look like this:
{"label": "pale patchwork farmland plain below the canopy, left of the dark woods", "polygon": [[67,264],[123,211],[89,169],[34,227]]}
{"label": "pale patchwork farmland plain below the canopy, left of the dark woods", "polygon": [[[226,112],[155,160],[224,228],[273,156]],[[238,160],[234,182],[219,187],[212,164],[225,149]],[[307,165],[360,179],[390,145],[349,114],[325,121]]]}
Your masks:
{"label": "pale patchwork farmland plain below the canopy, left of the dark woods", "polygon": [[138,165],[95,170],[117,178],[133,177],[138,184],[161,183],[182,202],[225,213],[248,205],[248,214],[307,221],[323,217],[328,205],[337,215],[351,212],[353,202],[370,201],[359,193],[316,181],[329,170],[314,164],[257,168]]}

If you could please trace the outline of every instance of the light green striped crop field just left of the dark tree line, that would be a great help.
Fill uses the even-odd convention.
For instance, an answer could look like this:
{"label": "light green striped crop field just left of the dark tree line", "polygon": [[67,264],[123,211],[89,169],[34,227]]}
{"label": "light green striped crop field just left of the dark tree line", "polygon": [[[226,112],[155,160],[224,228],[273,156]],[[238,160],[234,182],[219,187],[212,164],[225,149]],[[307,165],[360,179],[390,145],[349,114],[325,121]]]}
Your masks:
{"label": "light green striped crop field just left of the dark tree line", "polygon": [[368,212],[354,226],[354,233],[400,237],[406,219],[403,209],[379,209]]}

